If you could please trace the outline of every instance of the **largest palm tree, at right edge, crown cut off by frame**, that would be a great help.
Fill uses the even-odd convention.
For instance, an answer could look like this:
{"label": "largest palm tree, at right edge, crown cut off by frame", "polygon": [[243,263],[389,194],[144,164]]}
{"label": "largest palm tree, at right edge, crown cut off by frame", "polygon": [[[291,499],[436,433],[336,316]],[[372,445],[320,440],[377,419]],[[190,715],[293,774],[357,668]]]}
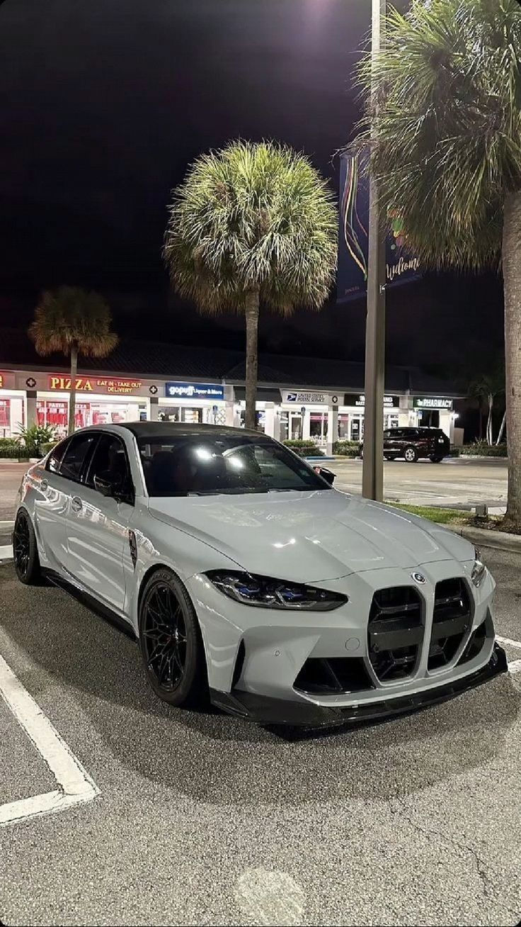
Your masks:
{"label": "largest palm tree, at right edge, crown cut off by frame", "polygon": [[[509,471],[503,527],[521,530],[521,11],[517,0],[413,0],[391,10],[361,143],[383,206],[425,265],[500,265]],[[372,135],[371,135],[372,123]],[[471,321],[469,320],[469,324]]]}

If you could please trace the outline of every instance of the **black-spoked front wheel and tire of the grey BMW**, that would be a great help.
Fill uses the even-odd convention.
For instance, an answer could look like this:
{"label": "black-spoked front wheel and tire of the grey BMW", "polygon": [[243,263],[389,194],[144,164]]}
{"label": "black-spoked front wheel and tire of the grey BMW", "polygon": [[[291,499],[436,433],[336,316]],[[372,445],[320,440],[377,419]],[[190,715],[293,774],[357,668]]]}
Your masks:
{"label": "black-spoked front wheel and tire of the grey BMW", "polygon": [[205,648],[192,602],[171,570],[147,580],[139,609],[140,649],[155,694],[168,705],[196,705],[207,692]]}

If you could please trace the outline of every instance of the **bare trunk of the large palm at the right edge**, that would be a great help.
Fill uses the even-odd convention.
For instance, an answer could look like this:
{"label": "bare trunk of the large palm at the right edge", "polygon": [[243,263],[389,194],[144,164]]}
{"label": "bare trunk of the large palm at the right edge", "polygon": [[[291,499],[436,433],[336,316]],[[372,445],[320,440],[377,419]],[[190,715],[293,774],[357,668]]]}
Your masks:
{"label": "bare trunk of the large palm at the right edge", "polygon": [[504,201],[502,230],[508,497],[502,527],[521,531],[521,190]]}

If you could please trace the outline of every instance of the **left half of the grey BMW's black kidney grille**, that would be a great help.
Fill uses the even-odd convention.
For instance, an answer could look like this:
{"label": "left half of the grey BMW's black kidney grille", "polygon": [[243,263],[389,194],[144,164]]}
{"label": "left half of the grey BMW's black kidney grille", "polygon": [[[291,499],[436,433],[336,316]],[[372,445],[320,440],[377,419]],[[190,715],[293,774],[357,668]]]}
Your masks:
{"label": "left half of the grey BMW's black kidney grille", "polygon": [[405,679],[416,667],[424,636],[422,600],[412,586],[375,592],[369,624],[369,660],[382,682]]}

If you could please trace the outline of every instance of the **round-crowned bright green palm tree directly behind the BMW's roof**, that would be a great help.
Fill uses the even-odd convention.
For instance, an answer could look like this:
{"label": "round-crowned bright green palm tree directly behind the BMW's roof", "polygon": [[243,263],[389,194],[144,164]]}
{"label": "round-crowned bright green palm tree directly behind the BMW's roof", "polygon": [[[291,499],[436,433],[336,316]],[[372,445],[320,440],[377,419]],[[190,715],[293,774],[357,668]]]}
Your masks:
{"label": "round-crowned bright green palm tree directly behind the BMW's roof", "polygon": [[291,148],[231,142],[194,161],[169,207],[164,257],[199,311],[246,320],[246,427],[255,427],[260,306],[320,309],[336,266],[337,213],[325,181]]}

